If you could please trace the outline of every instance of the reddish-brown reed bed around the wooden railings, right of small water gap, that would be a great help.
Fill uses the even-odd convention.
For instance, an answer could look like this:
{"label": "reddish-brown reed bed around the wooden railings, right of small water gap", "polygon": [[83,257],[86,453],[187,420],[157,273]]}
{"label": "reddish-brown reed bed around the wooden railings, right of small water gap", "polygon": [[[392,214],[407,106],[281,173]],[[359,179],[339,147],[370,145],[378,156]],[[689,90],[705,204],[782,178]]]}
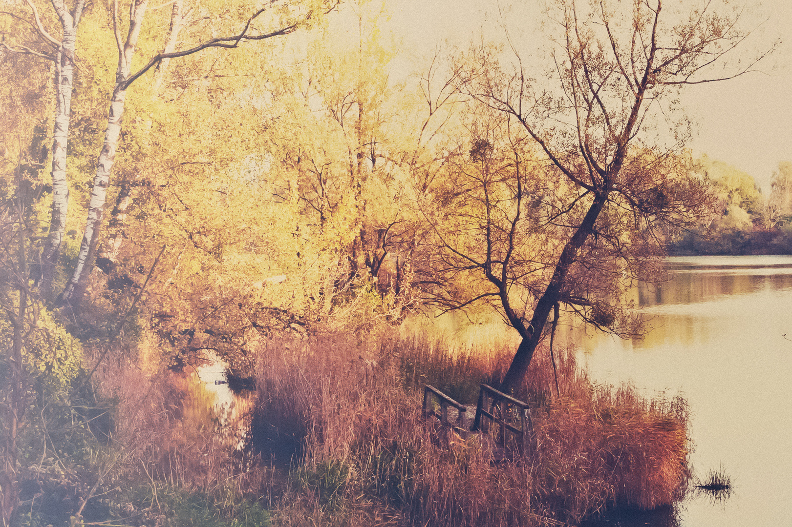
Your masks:
{"label": "reddish-brown reed bed around the wooden railings, right of small water gap", "polygon": [[612,503],[673,501],[687,478],[683,401],[593,387],[570,352],[557,358],[561,397],[543,350],[517,394],[535,407],[537,449],[524,461],[496,466],[477,438],[422,419],[423,383],[475,400],[510,352],[394,336],[268,341],[253,441],[291,465],[276,525],[558,525]]}

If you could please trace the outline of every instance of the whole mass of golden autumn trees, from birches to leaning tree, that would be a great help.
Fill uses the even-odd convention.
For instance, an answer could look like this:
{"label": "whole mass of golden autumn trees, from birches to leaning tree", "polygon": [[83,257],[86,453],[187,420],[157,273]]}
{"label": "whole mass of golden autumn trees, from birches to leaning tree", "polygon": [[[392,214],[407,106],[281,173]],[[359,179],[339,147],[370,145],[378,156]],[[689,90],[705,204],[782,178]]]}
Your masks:
{"label": "whole mass of golden autumn trees, from birches to leaning tree", "polygon": [[711,2],[547,14],[545,59],[481,44],[394,80],[374,2],[4,2],[7,313],[24,292],[86,341],[131,317],[168,358],[249,362],[273,332],[488,305],[523,338],[506,388],[559,306],[634,334],[620,292],[667,237],[760,207],[717,162],[703,184],[676,104],[756,61],[729,63],[748,32]]}

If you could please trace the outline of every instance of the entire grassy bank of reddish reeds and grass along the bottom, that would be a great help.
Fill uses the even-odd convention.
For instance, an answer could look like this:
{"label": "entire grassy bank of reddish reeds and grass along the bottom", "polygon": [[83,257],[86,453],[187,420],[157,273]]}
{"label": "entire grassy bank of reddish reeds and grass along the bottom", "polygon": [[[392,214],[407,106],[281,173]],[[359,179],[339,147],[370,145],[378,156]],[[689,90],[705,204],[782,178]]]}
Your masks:
{"label": "entire grassy bank of reddish reeds and grass along the bottom", "polygon": [[[86,361],[99,353],[86,349]],[[421,417],[425,383],[474,405],[511,353],[395,332],[270,339],[257,351],[256,392],[229,422],[192,366],[113,350],[81,403],[110,419],[75,417],[64,389],[38,423],[45,434],[29,430],[16,523],[563,525],[675,500],[688,479],[683,400],[592,385],[567,351],[556,357],[560,396],[544,349],[516,393],[536,432],[524,461],[495,466],[476,439]],[[251,422],[255,452],[242,453],[232,430]]]}

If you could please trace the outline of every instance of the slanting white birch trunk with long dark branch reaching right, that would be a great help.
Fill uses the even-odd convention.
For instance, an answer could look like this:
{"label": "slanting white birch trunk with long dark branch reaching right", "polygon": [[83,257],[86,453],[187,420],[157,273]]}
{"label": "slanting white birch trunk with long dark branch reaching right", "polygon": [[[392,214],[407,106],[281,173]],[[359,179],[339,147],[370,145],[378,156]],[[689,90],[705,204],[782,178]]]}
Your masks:
{"label": "slanting white birch trunk with long dark branch reaching right", "polygon": [[124,116],[124,102],[127,97],[126,81],[129,78],[132,58],[135,55],[140,28],[143,25],[143,16],[146,13],[147,0],[135,2],[130,6],[130,23],[127,40],[123,47],[121,45],[120,33],[118,32],[117,7],[114,6],[114,25],[116,29],[116,43],[118,44],[118,69],[116,70],[116,87],[113,89],[110,100],[110,109],[107,119],[107,129],[105,131],[105,143],[102,146],[101,154],[97,161],[96,176],[93,177],[93,192],[88,205],[88,219],[86,230],[82,236],[82,244],[77,257],[77,267],[74,268],[74,275],[66,286],[61,296],[62,305],[68,305],[71,309],[78,309],[82,294],[88,286],[89,266],[93,260],[93,253],[96,252],[97,241],[101,220],[105,212],[105,200],[107,199],[107,187],[110,181],[110,171],[113,161],[116,158],[116,148],[118,146],[118,136],[121,132],[121,119]]}

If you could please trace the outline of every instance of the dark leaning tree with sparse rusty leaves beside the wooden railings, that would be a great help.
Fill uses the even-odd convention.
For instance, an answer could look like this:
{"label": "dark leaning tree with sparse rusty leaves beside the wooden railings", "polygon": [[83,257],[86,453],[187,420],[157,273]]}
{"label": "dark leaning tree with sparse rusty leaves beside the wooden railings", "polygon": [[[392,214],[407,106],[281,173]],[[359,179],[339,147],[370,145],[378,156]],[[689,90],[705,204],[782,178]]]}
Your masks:
{"label": "dark leaning tree with sparse rusty leaves beside the wooden railings", "polygon": [[[656,278],[668,227],[710,207],[685,160],[690,123],[676,96],[746,74],[769,53],[729,63],[750,34],[739,10],[627,3],[551,2],[558,32],[536,78],[513,45],[511,70],[486,46],[460,66],[459,89],[486,112],[436,200],[450,207],[432,221],[441,250],[431,294],[447,309],[491,301],[519,332],[505,390],[523,381],[559,305],[598,328],[635,331],[619,289]],[[463,277],[478,283],[452,285]]]}

